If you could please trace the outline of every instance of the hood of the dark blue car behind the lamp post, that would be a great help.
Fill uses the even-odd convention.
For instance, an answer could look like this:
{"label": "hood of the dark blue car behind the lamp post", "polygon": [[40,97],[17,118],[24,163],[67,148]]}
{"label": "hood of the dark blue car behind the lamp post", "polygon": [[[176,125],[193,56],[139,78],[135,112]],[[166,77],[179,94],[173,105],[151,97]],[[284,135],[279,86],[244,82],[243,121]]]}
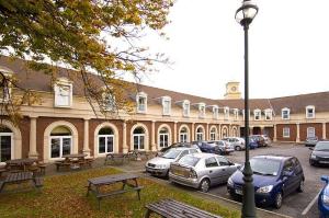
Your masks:
{"label": "hood of the dark blue car behind the lamp post", "polygon": [[[237,185],[243,184],[243,174],[240,170],[237,170],[230,177],[235,184]],[[252,179],[253,179],[252,183],[254,187],[274,185],[277,181],[277,177],[279,176],[252,174]]]}

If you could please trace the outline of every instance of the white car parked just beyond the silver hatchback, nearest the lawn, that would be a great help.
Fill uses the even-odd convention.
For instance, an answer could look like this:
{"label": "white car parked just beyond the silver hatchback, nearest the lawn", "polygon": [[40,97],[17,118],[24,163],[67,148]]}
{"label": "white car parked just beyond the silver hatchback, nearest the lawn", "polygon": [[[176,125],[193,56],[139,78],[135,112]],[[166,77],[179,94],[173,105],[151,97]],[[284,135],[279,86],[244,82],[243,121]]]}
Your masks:
{"label": "white car parked just beyond the silver hatchback, nearest the lawn", "polygon": [[158,176],[168,176],[170,163],[173,161],[178,161],[182,157],[189,153],[198,153],[200,149],[196,148],[171,148],[167,150],[161,156],[150,159],[145,164],[146,172],[158,175]]}

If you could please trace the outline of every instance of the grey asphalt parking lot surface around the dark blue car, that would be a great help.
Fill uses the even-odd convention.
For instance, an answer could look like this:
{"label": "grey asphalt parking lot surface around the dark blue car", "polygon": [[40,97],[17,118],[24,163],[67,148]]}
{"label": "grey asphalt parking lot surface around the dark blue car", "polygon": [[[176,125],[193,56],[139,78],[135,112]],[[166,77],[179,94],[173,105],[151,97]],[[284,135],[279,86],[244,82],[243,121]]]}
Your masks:
{"label": "grey asphalt parking lot surface around the dark blue car", "polygon": [[[306,213],[307,207],[310,202],[317,196],[324,183],[320,181],[320,176],[324,174],[329,174],[329,168],[319,168],[319,167],[310,167],[308,163],[310,150],[302,145],[272,145],[268,148],[258,148],[256,150],[250,151],[250,156],[258,154],[285,154],[285,156],[295,156],[298,158],[303,165],[304,174],[305,174],[305,191],[304,193],[294,193],[288,195],[283,199],[283,205],[280,209],[274,208],[264,208],[268,210],[272,210],[275,213],[280,213],[283,215],[287,215],[291,217],[319,217],[317,209],[317,202],[309,208]],[[237,163],[243,163],[245,161],[245,152],[236,151],[230,156],[227,156],[229,160]],[[219,195],[225,198],[230,198],[227,193],[226,184],[216,186],[211,188],[209,193]],[[303,211],[305,210],[305,215],[303,216]]]}

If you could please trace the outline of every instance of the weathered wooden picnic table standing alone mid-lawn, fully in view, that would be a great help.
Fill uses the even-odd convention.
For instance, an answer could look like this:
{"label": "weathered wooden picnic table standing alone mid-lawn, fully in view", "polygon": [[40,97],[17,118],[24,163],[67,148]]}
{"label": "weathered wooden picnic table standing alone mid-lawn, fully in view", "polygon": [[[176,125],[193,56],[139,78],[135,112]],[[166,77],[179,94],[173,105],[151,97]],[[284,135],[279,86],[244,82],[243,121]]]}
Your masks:
{"label": "weathered wooden picnic table standing alone mid-lawn, fully in view", "polygon": [[[123,194],[123,193],[126,193],[129,191],[136,191],[138,194],[138,199],[140,200],[139,192],[143,188],[143,186],[138,186],[138,182],[137,182],[138,177],[139,176],[136,174],[122,173],[122,174],[105,175],[105,176],[101,176],[101,177],[88,179],[87,196],[89,195],[89,192],[92,192],[95,194],[95,197],[99,202],[99,209],[101,208],[101,199],[103,197]],[[110,192],[101,191],[102,186],[114,185],[117,183],[123,184],[121,190],[110,191]],[[127,188],[125,188],[126,186],[127,186]]]}

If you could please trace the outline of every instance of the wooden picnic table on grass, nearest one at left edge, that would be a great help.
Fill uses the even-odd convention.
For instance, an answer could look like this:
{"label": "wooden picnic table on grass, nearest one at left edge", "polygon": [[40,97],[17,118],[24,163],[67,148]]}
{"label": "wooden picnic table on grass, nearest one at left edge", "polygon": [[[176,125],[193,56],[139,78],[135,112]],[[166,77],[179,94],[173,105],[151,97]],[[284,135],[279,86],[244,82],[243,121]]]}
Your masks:
{"label": "wooden picnic table on grass, nearest one at left edge", "polygon": [[42,179],[33,176],[32,172],[10,173],[7,175],[4,181],[0,182],[0,193],[8,184],[20,184],[29,181],[34,185],[34,187],[43,186]]}

